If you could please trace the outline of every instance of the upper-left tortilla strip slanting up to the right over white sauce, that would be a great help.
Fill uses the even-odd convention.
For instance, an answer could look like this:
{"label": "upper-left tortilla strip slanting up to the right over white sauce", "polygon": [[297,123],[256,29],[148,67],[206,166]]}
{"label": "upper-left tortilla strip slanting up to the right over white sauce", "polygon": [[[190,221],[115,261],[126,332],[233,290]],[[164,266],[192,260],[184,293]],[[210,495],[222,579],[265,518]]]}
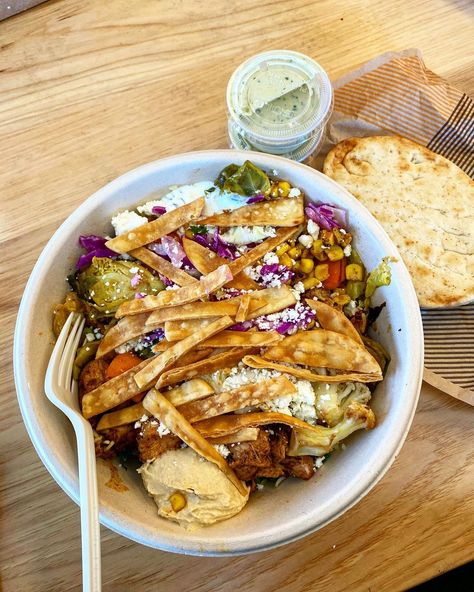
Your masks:
{"label": "upper-left tortilla strip slanting up to the right over white sauce", "polygon": [[201,216],[204,203],[204,197],[198,197],[184,206],[163,214],[152,222],[142,224],[130,232],[108,240],[105,244],[116,253],[128,253],[132,249],[148,245],[162,236],[174,232],[180,226],[197,220]]}

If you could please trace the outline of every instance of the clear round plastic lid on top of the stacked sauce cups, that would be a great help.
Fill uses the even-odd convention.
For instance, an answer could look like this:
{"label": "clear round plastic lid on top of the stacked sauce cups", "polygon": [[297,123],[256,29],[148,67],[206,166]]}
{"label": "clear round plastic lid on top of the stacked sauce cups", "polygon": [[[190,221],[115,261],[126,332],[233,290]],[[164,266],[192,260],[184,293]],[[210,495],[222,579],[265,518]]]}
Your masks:
{"label": "clear round plastic lid on top of the stacked sauce cups", "polygon": [[231,119],[256,140],[281,145],[325,125],[333,104],[328,75],[311,58],[287,50],[241,64],[227,86]]}

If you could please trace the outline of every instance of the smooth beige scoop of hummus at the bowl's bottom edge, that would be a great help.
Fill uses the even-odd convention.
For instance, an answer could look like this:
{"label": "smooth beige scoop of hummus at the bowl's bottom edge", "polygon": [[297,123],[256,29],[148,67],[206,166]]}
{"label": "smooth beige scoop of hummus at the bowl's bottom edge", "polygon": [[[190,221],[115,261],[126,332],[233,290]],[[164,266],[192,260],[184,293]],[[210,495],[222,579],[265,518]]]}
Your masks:
{"label": "smooth beige scoop of hummus at the bowl's bottom edge", "polygon": [[[138,472],[158,514],[183,526],[201,526],[226,520],[245,506],[244,497],[217,466],[191,448],[169,450],[143,464]],[[174,511],[170,497],[181,494],[186,505]]]}

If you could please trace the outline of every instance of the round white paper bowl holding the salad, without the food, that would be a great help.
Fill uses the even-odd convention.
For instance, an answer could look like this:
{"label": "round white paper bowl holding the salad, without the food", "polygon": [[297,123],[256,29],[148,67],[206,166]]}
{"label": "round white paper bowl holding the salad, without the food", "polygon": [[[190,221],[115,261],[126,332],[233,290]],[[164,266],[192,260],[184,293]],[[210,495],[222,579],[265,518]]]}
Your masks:
{"label": "round white paper bowl holding the salad, without the food", "polygon": [[117,210],[144,201],[169,185],[213,179],[231,162],[250,158],[300,187],[309,199],[345,208],[356,245],[369,269],[383,256],[392,265],[392,283],[377,291],[387,302],[377,321],[379,339],[392,361],[377,386],[372,406],[376,429],[355,434],[347,449],[311,481],[289,479],[278,489],[252,496],[231,520],[186,531],[157,515],[133,470],[122,470],[129,491],[105,487],[109,468],[98,463],[101,522],[138,543],[177,553],[236,555],[282,545],[321,528],[360,500],[381,478],[400,450],[415,412],[422,376],[423,340],[418,302],[408,272],[380,224],[345,189],[302,164],[259,153],[203,151],[165,158],[112,181],[80,205],[51,238],[30,276],[18,314],[14,345],[15,382],[23,419],[41,460],[64,491],[78,501],[75,439],[68,420],[43,392],[53,345],[51,312],[66,293],[65,278],[79,255],[80,234],[107,234]]}

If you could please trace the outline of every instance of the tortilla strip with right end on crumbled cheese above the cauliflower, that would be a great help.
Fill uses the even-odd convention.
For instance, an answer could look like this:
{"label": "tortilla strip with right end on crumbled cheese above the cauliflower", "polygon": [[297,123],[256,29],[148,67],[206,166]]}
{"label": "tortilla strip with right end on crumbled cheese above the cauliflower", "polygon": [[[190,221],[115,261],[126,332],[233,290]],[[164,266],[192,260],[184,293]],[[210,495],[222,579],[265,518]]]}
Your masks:
{"label": "tortilla strip with right end on crumbled cheese above the cauliflower", "polygon": [[294,395],[295,385],[286,376],[277,376],[269,380],[262,380],[258,383],[239,386],[230,391],[224,391],[181,405],[179,412],[190,422],[195,423],[216,415],[223,415],[230,411],[237,411],[244,407],[260,405],[265,401]]}

